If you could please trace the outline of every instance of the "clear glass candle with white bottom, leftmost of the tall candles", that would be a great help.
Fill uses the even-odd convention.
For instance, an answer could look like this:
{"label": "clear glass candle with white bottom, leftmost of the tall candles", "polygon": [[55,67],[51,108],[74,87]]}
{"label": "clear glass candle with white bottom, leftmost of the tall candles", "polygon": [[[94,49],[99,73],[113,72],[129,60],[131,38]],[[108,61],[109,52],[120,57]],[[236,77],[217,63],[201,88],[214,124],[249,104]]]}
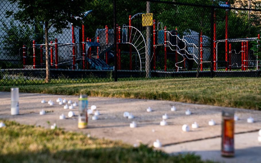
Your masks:
{"label": "clear glass candle with white bottom, leftmost of the tall candles", "polygon": [[11,115],[19,114],[19,88],[11,88]]}

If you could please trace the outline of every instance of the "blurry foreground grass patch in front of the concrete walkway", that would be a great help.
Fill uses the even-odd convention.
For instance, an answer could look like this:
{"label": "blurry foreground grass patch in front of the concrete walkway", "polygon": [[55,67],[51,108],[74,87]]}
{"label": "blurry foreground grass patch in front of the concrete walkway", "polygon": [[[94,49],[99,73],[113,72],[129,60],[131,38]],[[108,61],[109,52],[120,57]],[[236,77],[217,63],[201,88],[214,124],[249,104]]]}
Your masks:
{"label": "blurry foreground grass patch in front of the concrete walkway", "polygon": [[44,129],[4,121],[0,162],[203,162],[194,154],[169,155],[147,145],[87,137],[62,129]]}

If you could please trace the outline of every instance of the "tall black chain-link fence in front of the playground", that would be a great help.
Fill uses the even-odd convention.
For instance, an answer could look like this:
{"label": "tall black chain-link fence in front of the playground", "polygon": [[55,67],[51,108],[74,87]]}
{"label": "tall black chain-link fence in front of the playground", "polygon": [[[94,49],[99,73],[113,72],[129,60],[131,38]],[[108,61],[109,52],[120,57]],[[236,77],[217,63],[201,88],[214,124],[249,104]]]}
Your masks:
{"label": "tall black chain-link fence in front of the playground", "polygon": [[49,28],[45,47],[44,24],[15,20],[21,9],[1,1],[0,85],[260,76],[258,2],[86,3],[82,25]]}

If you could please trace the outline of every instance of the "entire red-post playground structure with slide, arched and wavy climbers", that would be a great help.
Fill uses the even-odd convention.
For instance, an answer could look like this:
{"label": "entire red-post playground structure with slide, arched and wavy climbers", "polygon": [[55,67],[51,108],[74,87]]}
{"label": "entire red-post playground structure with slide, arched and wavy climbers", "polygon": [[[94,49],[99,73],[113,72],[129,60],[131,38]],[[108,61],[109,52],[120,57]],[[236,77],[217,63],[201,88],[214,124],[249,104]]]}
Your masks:
{"label": "entire red-post playground structure with slide, arched and wavy climbers", "polygon": [[[227,7],[230,7],[227,5]],[[161,22],[153,20],[153,53],[150,56],[151,69],[149,71],[154,72],[180,72],[196,71],[199,64],[199,71],[209,72],[211,57],[213,57],[213,71],[253,71],[258,70],[258,58],[251,53],[249,48],[250,41],[256,41],[257,38],[242,38],[242,39],[228,39],[228,10],[225,16],[225,40],[216,39],[216,20],[214,13],[214,38],[213,38],[213,54],[205,51],[205,46],[208,46],[211,38],[204,36],[202,32],[199,34],[178,33],[178,29],[167,30],[167,27]],[[129,15],[128,26],[123,24],[116,27],[116,56],[111,49],[114,47],[114,31],[108,29],[105,26],[104,29],[97,29],[96,36],[93,38],[85,37],[85,26],[82,25],[82,42],[76,42],[74,34],[74,26],[72,25],[72,42],[66,44],[60,44],[56,38],[54,43],[51,41],[50,46],[50,68],[51,69],[72,69],[72,70],[114,70],[113,60],[116,57],[118,70],[140,71],[146,70],[146,39],[145,28],[141,26],[141,15],[143,13],[137,13],[133,16]],[[86,16],[86,15],[85,15]],[[136,26],[135,26],[136,24]],[[200,40],[197,40],[198,35]],[[193,40],[194,41],[191,41]],[[199,42],[195,43],[195,42]],[[218,59],[220,48],[218,44],[225,42],[225,61]],[[240,42],[241,50],[232,49],[233,44]],[[129,44],[129,67],[128,69],[122,69],[122,46]],[[164,47],[164,69],[157,69],[157,57],[159,53],[162,53],[161,47]],[[28,57],[28,51],[33,49],[33,65],[35,68],[45,67],[45,44],[36,44],[33,42],[33,46],[27,48],[23,46],[21,51],[23,52],[23,68],[28,66],[26,63],[26,57]],[[125,48],[126,49],[126,48]],[[133,52],[135,49],[135,53]],[[152,48],[151,48],[152,49]],[[173,56],[167,56],[167,51],[172,51]],[[125,53],[126,54],[126,53]],[[135,54],[135,57],[133,57]],[[37,55],[40,57],[40,62],[37,61]],[[241,56],[240,56],[241,55]],[[167,65],[167,57],[171,57],[174,61],[174,67]],[[239,57],[241,60],[239,61]],[[39,64],[40,63],[40,64]],[[222,64],[225,63],[225,64]],[[207,66],[206,66],[207,65]],[[224,66],[225,65],[225,66]]]}

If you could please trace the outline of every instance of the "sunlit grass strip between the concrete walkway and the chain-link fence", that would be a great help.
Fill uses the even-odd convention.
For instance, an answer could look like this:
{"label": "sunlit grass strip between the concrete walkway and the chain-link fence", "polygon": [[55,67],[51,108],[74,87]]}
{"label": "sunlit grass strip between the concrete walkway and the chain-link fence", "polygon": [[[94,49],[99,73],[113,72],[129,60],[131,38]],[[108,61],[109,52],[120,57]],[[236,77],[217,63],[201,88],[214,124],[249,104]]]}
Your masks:
{"label": "sunlit grass strip between the concrete walkway and the chain-link fence", "polygon": [[[10,91],[11,86],[0,90]],[[261,110],[260,78],[185,78],[20,86],[20,92],[171,100]]]}

